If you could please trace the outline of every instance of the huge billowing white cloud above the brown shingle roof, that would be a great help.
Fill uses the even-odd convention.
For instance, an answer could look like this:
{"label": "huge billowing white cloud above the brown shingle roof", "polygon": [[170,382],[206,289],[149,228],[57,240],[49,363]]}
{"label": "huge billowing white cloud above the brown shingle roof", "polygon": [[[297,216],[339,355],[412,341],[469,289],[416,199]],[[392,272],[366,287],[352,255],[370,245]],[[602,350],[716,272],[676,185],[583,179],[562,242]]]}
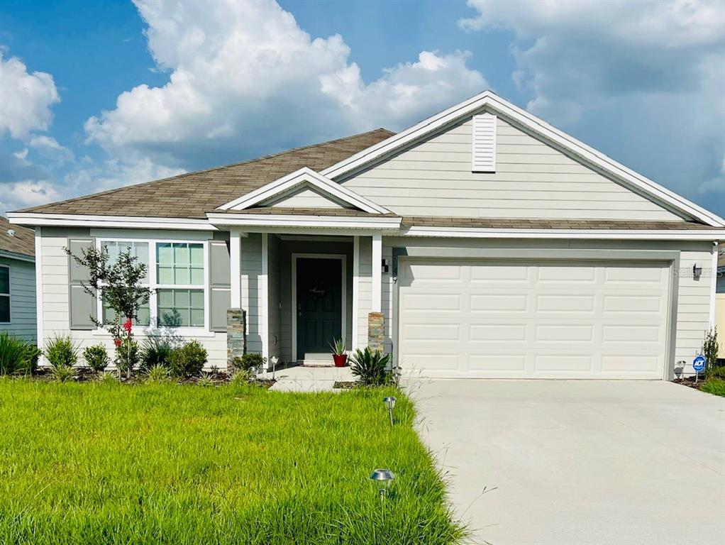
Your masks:
{"label": "huge billowing white cloud above the brown shingle roof", "polygon": [[162,87],[121,94],[86,122],[88,142],[115,157],[214,164],[400,128],[486,87],[466,54],[422,52],[365,83],[339,35],[312,38],[273,1],[136,2]]}

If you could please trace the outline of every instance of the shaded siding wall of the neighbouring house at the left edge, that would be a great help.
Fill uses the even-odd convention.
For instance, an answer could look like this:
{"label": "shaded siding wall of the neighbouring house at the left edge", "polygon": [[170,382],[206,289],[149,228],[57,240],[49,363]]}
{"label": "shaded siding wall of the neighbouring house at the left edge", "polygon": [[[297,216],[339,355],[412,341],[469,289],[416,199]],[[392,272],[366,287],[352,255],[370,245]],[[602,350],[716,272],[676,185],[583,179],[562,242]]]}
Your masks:
{"label": "shaded siding wall of the neighbouring house at the left edge", "polygon": [[35,263],[0,258],[0,266],[10,270],[10,323],[0,324],[0,331],[35,342],[38,332]]}

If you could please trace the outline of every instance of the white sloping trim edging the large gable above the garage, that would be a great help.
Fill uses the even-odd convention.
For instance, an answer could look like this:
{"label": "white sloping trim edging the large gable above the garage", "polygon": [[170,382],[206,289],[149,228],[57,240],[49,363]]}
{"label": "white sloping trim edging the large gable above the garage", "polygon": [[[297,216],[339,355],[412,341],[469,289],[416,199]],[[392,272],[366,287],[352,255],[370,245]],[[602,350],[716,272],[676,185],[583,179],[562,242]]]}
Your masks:
{"label": "white sloping trim edging the large gable above the garage", "polygon": [[431,134],[444,126],[455,123],[460,118],[471,115],[471,113],[482,107],[487,107],[492,112],[514,120],[544,140],[558,144],[568,152],[584,160],[585,163],[599,168],[618,181],[621,181],[624,185],[638,189],[644,196],[666,204],[674,210],[679,211],[679,213],[703,221],[705,224],[717,227],[725,226],[725,219],[705,210],[705,208],[701,208],[694,202],[682,197],[682,195],[676,194],[670,189],[660,186],[655,181],[621,165],[621,163],[616,162],[607,155],[587,146],[584,142],[580,142],[573,138],[573,136],[569,136],[558,128],[546,123],[544,120],[537,118],[535,115],[531,115],[526,110],[522,110],[507,100],[498,97],[492,91],[484,91],[476,95],[476,97],[472,97],[443,112],[433,115],[399,134],[391,136],[367,149],[363,149],[363,151],[320,171],[320,174],[326,176],[328,179],[339,179],[341,176],[355,171],[364,165],[369,165],[384,155],[394,152],[415,140],[421,139],[427,134]]}

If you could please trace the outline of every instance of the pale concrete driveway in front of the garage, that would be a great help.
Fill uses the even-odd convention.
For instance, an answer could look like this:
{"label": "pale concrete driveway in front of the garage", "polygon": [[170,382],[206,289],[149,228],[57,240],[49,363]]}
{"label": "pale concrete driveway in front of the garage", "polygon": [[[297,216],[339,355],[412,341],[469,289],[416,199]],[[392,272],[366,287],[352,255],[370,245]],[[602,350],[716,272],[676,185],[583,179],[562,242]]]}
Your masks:
{"label": "pale concrete driveway in front of the garage", "polygon": [[474,543],[725,544],[725,398],[649,381],[408,390]]}

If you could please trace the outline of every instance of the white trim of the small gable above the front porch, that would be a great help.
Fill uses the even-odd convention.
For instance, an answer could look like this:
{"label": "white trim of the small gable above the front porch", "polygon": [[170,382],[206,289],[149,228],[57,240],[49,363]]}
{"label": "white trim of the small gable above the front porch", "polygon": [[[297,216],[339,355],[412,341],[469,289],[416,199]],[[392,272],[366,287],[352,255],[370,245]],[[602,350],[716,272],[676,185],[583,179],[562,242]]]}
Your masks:
{"label": "white trim of the small gable above the front porch", "polygon": [[332,181],[326,176],[322,176],[320,173],[313,171],[309,167],[300,168],[298,171],[289,173],[287,176],[283,176],[280,179],[271,181],[269,184],[255,189],[254,191],[242,195],[238,199],[227,202],[221,205],[217,210],[244,210],[244,208],[251,208],[254,205],[264,202],[273,197],[283,196],[286,192],[289,192],[294,187],[302,184],[309,184],[311,187],[319,189],[323,193],[330,194],[342,202],[359,208],[370,214],[388,214],[390,210],[383,208],[375,202],[366,199],[360,194],[355,193],[347,187],[343,187],[340,184]]}

